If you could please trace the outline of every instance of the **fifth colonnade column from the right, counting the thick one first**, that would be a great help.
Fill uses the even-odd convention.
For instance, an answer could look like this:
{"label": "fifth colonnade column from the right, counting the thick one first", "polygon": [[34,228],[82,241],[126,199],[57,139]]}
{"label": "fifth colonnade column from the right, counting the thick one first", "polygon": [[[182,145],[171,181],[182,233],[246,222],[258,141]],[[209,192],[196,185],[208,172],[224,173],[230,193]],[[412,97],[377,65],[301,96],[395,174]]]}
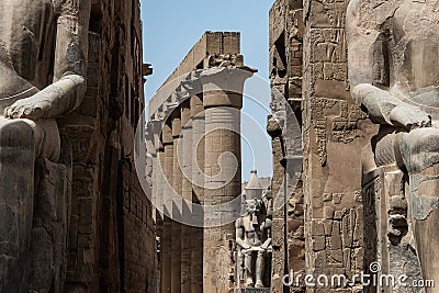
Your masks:
{"label": "fifth colonnade column from the right, counting the thick one first", "polygon": [[[162,129],[162,145],[165,151],[162,155],[164,159],[164,238],[161,240],[161,292],[171,292],[171,237],[172,237],[172,224],[169,217],[172,211],[172,202],[170,202],[170,184],[173,178],[173,139],[170,122],[164,125]],[[161,159],[161,158],[160,158]]]}

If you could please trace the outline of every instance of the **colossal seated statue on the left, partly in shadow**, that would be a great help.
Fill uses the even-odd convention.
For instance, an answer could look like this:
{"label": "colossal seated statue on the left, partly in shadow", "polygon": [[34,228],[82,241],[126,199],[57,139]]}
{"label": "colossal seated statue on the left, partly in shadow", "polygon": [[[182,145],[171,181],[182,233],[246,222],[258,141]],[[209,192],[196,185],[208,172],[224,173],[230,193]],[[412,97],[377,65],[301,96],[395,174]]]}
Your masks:
{"label": "colossal seated statue on the left, partly in shadow", "polygon": [[0,292],[23,292],[35,160],[58,161],[55,119],[83,99],[90,5],[0,1]]}

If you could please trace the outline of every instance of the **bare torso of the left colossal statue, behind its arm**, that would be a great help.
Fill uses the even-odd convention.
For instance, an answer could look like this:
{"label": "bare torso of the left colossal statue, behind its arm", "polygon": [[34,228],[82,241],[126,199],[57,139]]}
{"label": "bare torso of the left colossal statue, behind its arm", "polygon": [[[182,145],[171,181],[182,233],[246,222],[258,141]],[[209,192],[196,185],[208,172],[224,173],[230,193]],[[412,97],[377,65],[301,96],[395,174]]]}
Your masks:
{"label": "bare torso of the left colossal statue, behind its arm", "polygon": [[55,29],[50,0],[0,1],[0,110],[47,86]]}

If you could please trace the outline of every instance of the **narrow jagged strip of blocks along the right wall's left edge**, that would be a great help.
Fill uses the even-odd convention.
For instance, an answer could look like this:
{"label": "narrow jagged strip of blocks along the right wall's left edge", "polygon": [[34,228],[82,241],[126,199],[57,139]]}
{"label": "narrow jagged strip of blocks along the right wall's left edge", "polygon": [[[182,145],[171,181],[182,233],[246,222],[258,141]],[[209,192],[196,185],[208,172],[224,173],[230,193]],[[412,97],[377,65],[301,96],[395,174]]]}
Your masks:
{"label": "narrow jagged strip of blocks along the right wall's left edge", "polygon": [[[286,189],[285,161],[294,154],[294,134],[288,115],[295,115],[302,122],[302,58],[303,15],[302,1],[275,1],[270,10],[270,82],[272,115],[268,132],[272,136],[273,194],[290,196],[286,206],[273,213],[273,266],[272,292],[283,292],[282,279],[291,270],[305,271],[304,201],[302,181],[295,189]],[[286,112],[288,111],[288,112]],[[284,124],[285,123],[285,124]],[[297,134],[296,134],[297,135]],[[293,292],[303,292],[303,286]]]}

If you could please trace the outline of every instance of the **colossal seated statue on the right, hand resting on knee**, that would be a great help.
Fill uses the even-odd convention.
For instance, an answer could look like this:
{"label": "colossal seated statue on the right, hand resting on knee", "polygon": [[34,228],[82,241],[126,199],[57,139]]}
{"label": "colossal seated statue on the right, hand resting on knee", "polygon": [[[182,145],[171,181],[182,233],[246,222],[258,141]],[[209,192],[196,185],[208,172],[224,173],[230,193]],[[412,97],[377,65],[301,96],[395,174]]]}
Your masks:
{"label": "colossal seated statue on the right, hand resting on knee", "polygon": [[438,283],[439,2],[352,0],[347,41],[351,94],[380,124],[363,166],[405,173],[423,277]]}

